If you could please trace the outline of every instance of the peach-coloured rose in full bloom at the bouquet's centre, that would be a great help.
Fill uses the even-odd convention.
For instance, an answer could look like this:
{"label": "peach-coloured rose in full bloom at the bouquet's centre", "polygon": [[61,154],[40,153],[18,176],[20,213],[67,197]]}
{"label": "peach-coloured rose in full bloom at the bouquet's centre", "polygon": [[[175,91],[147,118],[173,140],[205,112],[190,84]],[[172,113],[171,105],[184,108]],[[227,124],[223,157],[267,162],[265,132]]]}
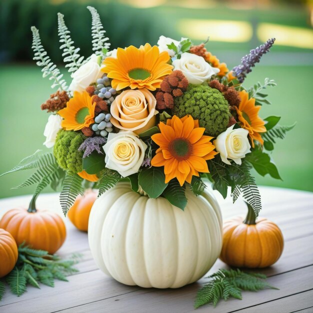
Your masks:
{"label": "peach-coloured rose in full bloom at the bouquet's centre", "polygon": [[127,89],[115,97],[110,122],[117,128],[139,134],[155,125],[156,100],[146,88]]}

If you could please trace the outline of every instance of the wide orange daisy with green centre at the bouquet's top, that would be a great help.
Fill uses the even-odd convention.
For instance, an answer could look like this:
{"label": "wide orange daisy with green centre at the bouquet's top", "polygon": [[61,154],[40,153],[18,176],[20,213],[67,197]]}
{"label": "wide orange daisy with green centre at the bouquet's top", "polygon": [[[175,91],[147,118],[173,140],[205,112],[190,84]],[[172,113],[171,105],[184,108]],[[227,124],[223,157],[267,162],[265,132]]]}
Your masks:
{"label": "wide orange daisy with green centre at the bouquet's top", "polygon": [[173,66],[167,64],[167,51],[159,52],[157,46],[146,43],[140,48],[133,45],[117,48],[116,57],[106,57],[101,70],[107,77],[113,78],[112,87],[120,90],[130,86],[131,89],[159,88],[162,77],[172,72]]}

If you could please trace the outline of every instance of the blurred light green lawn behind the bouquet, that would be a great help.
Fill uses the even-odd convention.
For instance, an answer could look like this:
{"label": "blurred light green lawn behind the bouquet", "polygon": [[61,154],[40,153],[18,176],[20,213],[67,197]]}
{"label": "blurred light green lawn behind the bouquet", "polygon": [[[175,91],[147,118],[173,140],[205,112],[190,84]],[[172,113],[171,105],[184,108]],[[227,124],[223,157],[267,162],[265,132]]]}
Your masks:
{"label": "blurred light green lawn behind the bouquet", "polygon": [[[257,64],[245,81],[250,86],[264,77],[274,78],[277,87],[268,89],[272,106],[264,106],[261,117],[281,115],[281,124],[297,122],[284,140],[277,141],[272,158],[276,162],[282,181],[259,177],[259,184],[313,191],[312,176],[313,125],[312,106],[313,66],[262,66]],[[16,165],[36,149],[43,150],[43,129],[48,114],[40,110],[52,93],[50,81],[42,79],[40,69],[34,65],[5,65],[0,67],[0,172]],[[0,177],[0,197],[27,194],[33,187],[11,190],[28,176],[17,172]],[[51,191],[46,189],[46,191]]]}

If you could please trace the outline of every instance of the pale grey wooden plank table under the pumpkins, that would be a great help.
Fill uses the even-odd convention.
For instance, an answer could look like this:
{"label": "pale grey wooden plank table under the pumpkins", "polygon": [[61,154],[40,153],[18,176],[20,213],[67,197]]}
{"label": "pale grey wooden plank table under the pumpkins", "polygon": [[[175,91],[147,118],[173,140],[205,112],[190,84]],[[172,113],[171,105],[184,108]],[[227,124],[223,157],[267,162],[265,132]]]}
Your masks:
{"label": "pale grey wooden plank table under the pumpkins", "polygon": [[[260,187],[263,209],[261,216],[276,222],[284,235],[285,246],[280,259],[271,267],[258,270],[268,275],[268,282],[279,290],[243,292],[242,300],[220,301],[216,308],[204,305],[195,312],[313,312],[313,193]],[[223,200],[216,192],[223,218],[245,214],[238,200]],[[30,196],[0,200],[0,216],[9,208],[25,205]],[[37,207],[58,213],[58,195],[42,194]],[[207,281],[201,278],[179,289],[154,289],[127,286],[106,276],[95,265],[88,248],[87,234],[66,220],[67,238],[58,251],[62,257],[82,253],[79,269],[68,277],[69,282],[56,280],[55,287],[41,284],[41,289],[28,286],[17,297],[8,289],[0,301],[0,312],[192,312],[197,290]],[[209,272],[226,267],[219,259]]]}

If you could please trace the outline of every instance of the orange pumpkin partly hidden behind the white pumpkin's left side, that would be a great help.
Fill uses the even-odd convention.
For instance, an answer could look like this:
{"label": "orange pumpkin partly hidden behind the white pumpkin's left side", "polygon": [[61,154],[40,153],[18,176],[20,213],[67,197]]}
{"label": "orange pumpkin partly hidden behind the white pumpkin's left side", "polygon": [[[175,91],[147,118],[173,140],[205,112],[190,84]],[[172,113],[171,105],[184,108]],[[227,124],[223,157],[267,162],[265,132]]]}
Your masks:
{"label": "orange pumpkin partly hidden behind the white pumpkin's left side", "polygon": [[83,196],[78,196],[67,212],[69,220],[79,230],[88,230],[88,219],[93,202],[97,197],[97,192],[88,190]]}

